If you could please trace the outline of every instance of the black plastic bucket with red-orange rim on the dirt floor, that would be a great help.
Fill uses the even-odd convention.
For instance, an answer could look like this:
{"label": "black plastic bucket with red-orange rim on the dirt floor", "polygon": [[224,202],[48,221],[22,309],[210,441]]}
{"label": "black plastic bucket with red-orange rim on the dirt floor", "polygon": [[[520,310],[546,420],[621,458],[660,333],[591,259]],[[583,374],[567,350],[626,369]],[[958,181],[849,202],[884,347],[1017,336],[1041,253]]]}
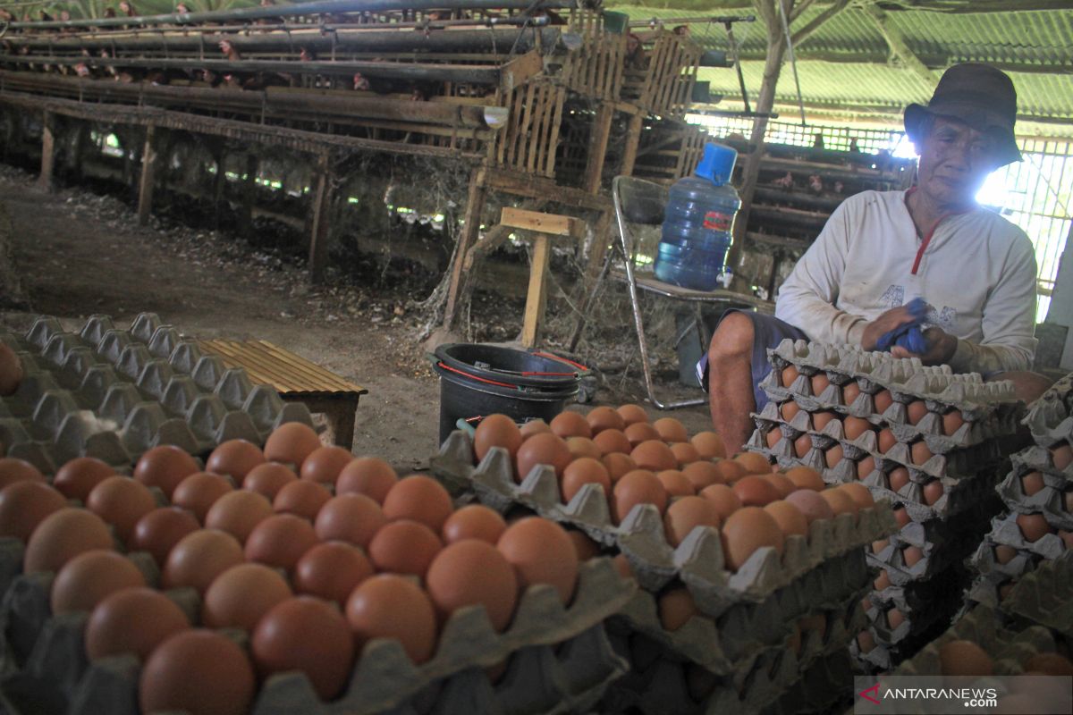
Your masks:
{"label": "black plastic bucket with red-orange rim on the dirt floor", "polygon": [[452,343],[436,348],[440,443],[459,419],[503,414],[517,422],[550,421],[577,396],[584,366],[547,353]]}

